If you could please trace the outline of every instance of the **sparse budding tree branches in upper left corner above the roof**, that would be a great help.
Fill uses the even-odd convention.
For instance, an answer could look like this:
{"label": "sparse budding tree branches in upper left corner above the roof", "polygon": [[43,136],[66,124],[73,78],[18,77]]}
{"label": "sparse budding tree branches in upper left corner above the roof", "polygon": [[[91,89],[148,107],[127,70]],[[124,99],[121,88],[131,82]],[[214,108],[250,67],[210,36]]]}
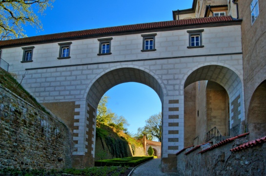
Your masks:
{"label": "sparse budding tree branches in upper left corner above the roof", "polygon": [[42,30],[42,24],[33,9],[44,15],[54,0],[0,0],[0,40],[26,37],[23,25],[30,24]]}

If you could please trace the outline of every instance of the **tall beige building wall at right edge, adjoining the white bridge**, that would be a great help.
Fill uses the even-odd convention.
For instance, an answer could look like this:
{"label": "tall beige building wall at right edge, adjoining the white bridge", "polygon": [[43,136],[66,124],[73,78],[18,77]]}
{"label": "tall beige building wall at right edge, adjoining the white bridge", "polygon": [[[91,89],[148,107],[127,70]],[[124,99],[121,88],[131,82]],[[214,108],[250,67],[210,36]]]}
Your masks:
{"label": "tall beige building wall at right edge, adjoining the white bridge", "polygon": [[255,89],[266,80],[266,1],[258,0],[259,15],[253,24],[251,23],[251,1],[239,0],[239,17],[243,19],[242,45],[246,114]]}

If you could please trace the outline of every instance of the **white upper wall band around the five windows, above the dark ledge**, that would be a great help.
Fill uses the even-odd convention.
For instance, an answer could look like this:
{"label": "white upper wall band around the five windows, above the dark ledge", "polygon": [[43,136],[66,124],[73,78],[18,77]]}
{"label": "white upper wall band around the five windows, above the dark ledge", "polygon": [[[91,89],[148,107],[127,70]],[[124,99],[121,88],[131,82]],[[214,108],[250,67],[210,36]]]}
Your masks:
{"label": "white upper wall band around the five windows, above the dark ledge", "polygon": [[[70,58],[58,59],[60,43],[31,44],[3,48],[1,58],[10,64],[10,72],[22,71],[26,68],[66,66],[88,63],[124,62],[132,60],[146,60],[154,58],[167,58],[173,56],[192,56],[205,54],[221,54],[242,52],[240,25],[201,27],[193,30],[202,32],[202,48],[187,48],[189,46],[189,33],[191,29],[158,31],[156,34],[154,51],[143,52],[142,34],[130,34],[122,36],[109,36],[111,40],[110,55],[98,55],[98,39],[69,40]],[[22,47],[34,46],[32,62],[21,63],[23,57]]]}

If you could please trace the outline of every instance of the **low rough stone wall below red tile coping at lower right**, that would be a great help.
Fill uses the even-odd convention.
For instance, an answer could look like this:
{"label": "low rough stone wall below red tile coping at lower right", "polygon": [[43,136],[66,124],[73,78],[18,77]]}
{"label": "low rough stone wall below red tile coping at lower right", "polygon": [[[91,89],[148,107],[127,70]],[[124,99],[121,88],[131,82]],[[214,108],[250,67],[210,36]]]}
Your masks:
{"label": "low rough stone wall below red tile coping at lower right", "polygon": [[[177,155],[177,171],[182,176],[265,176],[266,143],[237,152],[230,149],[248,141],[248,137],[235,139],[213,150],[198,154],[206,149],[203,145],[189,154],[191,148]],[[209,145],[209,144],[207,144]]]}

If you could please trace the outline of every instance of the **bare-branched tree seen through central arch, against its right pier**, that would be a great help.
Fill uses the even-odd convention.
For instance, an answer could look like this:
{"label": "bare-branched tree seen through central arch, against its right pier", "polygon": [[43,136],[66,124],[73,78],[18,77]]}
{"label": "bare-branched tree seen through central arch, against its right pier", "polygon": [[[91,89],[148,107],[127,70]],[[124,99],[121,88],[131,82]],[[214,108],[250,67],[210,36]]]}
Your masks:
{"label": "bare-branched tree seen through central arch, against its right pier", "polygon": [[148,140],[157,138],[159,142],[162,142],[162,112],[150,116],[145,123],[143,128],[138,128],[136,138],[141,139],[143,135],[146,135]]}

